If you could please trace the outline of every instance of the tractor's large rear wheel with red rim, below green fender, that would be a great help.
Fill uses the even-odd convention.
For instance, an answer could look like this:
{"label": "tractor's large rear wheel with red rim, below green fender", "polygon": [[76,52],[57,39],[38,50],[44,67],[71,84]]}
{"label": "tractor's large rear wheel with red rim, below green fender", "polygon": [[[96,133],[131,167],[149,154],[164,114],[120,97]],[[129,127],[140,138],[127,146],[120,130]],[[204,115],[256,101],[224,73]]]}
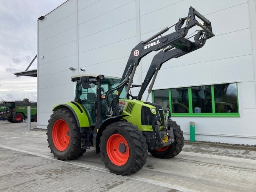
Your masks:
{"label": "tractor's large rear wheel with red rim, below green fender", "polygon": [[84,154],[81,148],[81,133],[74,114],[67,108],[53,112],[47,126],[49,148],[58,160],[76,159]]}

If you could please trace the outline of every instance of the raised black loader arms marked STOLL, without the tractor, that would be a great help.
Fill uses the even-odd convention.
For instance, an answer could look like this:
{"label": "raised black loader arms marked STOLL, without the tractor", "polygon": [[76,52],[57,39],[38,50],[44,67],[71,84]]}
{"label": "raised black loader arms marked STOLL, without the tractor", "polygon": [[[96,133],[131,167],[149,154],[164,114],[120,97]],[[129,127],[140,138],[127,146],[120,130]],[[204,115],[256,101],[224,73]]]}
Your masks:
{"label": "raised black loader arms marked STOLL, without the tractor", "polygon": [[[196,17],[202,20],[203,23],[199,23],[196,20]],[[185,27],[183,27],[183,25],[185,25]],[[202,30],[201,32],[198,32],[198,34],[195,36],[195,42],[192,42],[188,40],[188,38],[185,38],[185,36],[187,36],[188,30],[196,25],[201,27]],[[166,36],[161,36],[163,33],[168,31],[173,26],[175,26],[175,32],[168,34]],[[157,38],[158,36],[161,36],[161,37]],[[114,115],[120,115],[122,113],[122,107],[121,108],[118,107],[119,96],[122,90],[124,89],[124,86],[127,85],[126,94],[124,98],[126,99],[132,84],[132,80],[133,80],[136,68],[140,63],[140,60],[144,56],[146,56],[148,53],[152,51],[158,51],[160,49],[163,49],[163,52],[164,52],[164,53],[160,52],[159,55],[157,54],[156,57],[154,57],[154,60],[152,61],[152,64],[148,70],[148,74],[140,89],[140,93],[137,97],[137,100],[141,99],[141,96],[146,90],[150,80],[152,79],[154,74],[157,74],[156,71],[160,69],[161,65],[164,62],[172,59],[173,57],[177,58],[191,51],[194,51],[198,48],[201,48],[204,45],[206,39],[209,39],[212,36],[214,36],[214,34],[212,33],[211,22],[207,20],[199,12],[197,12],[193,7],[190,7],[187,17],[180,18],[177,23],[174,23],[170,27],[164,28],[154,36],[148,38],[145,41],[141,41],[139,44],[137,44],[132,49],[127,65],[124,69],[124,73],[121,78],[120,85],[117,86],[115,89],[110,90],[110,91],[117,90],[111,105],[111,108],[113,108],[113,110],[115,111]],[[200,37],[201,39],[199,40]],[[153,40],[155,38],[157,39]],[[169,51],[172,48],[175,48],[175,49],[172,51]],[[155,67],[155,65],[158,67]],[[153,80],[155,80],[155,77],[153,78]]]}

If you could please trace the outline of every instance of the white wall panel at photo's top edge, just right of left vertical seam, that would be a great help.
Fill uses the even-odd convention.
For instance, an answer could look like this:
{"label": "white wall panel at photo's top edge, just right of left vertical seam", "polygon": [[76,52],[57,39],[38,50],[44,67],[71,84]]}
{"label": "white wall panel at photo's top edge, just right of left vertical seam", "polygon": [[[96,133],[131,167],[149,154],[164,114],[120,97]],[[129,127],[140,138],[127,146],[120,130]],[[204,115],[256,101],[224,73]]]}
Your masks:
{"label": "white wall panel at photo's top edge, just right of left vertical seam", "polygon": [[[99,17],[105,13],[113,11],[125,4],[129,4],[133,0],[119,1],[119,0],[108,0],[108,1],[98,1],[85,9],[80,10],[80,4],[78,4],[80,10],[78,12],[78,24],[84,23],[85,21],[91,20],[93,18]],[[118,15],[118,17],[122,17],[122,15]],[[108,22],[106,20],[106,22]]]}

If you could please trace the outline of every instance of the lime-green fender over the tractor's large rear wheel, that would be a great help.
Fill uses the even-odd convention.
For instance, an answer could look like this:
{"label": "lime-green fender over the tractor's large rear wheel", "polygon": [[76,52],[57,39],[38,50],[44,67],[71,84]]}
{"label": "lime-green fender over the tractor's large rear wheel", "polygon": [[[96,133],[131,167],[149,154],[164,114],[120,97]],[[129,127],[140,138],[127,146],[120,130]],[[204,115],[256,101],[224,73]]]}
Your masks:
{"label": "lime-green fender over the tractor's large rear wheel", "polygon": [[77,102],[71,101],[64,104],[56,105],[53,111],[58,108],[68,108],[74,114],[78,127],[90,127],[89,118],[84,108]]}

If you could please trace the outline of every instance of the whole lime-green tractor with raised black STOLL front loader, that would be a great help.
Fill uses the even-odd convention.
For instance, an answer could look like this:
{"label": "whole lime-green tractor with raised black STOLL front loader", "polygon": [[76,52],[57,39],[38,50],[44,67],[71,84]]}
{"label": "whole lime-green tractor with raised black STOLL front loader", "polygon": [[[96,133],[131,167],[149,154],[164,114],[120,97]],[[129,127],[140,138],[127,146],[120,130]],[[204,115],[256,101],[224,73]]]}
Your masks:
{"label": "whole lime-green tractor with raised black STOLL front loader", "polygon": [[[175,32],[161,36],[173,26]],[[200,30],[185,37],[194,26]],[[142,101],[142,94],[151,82],[150,94],[164,62],[201,48],[212,36],[211,22],[190,7],[187,17],[132,49],[121,79],[100,74],[72,76],[75,99],[55,106],[47,126],[51,153],[63,161],[76,159],[86,148],[96,147],[110,172],[121,175],[139,171],[148,152],[156,158],[178,155],[184,145],[180,126],[171,120],[169,109],[164,112],[160,105]],[[132,85],[141,58],[158,50],[143,84]],[[140,87],[138,96],[131,94],[131,87]]]}

